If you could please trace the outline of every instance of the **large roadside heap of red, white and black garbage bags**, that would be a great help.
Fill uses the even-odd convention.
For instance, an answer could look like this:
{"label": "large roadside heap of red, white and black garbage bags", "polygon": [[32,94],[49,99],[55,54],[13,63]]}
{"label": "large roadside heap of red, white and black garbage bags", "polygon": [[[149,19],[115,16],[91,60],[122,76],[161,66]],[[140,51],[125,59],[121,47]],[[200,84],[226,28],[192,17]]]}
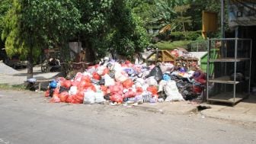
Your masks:
{"label": "large roadside heap of red, white and black garbage bags", "polygon": [[142,104],[200,98],[206,83],[200,70],[188,71],[171,63],[133,64],[105,60],[78,72],[74,78],[50,82],[46,97],[50,102],[94,104]]}

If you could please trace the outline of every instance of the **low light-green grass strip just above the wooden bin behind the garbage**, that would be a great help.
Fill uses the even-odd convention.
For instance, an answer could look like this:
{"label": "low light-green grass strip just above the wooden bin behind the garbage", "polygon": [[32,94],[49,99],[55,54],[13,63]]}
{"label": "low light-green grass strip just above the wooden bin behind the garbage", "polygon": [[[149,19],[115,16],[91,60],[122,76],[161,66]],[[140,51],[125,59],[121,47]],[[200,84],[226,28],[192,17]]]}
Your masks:
{"label": "low light-green grass strip just above the wooden bin behind the garbage", "polygon": [[187,48],[187,44],[191,43],[190,40],[180,40],[180,41],[162,41],[155,44],[160,50],[174,50],[176,47]]}

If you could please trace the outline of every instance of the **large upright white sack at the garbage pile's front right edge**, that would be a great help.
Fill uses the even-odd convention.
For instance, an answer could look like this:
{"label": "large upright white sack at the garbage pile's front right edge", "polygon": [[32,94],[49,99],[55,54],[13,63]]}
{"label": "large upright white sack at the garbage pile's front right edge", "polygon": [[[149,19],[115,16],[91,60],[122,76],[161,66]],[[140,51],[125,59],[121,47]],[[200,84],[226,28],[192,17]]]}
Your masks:
{"label": "large upright white sack at the garbage pile's front right edge", "polygon": [[167,95],[165,101],[184,101],[184,98],[178,91],[175,81],[168,81],[167,85],[164,87],[164,91]]}

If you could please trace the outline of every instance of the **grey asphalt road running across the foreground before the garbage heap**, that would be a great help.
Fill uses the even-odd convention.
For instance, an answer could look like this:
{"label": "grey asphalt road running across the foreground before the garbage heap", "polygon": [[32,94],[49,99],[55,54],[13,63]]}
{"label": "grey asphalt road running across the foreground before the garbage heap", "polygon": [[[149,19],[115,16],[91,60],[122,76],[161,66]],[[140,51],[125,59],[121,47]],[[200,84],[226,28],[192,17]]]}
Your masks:
{"label": "grey asphalt road running across the foreground before the garbage heap", "polygon": [[0,144],[256,143],[256,127],[135,107],[50,104],[43,94],[0,90]]}

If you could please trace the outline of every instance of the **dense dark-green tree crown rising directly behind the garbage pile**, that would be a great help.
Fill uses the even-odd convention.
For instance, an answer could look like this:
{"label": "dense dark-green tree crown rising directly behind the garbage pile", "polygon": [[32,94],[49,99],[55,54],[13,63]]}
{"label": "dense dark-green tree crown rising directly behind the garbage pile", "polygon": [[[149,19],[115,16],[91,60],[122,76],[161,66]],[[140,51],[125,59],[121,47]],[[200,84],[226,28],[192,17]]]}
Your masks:
{"label": "dense dark-green tree crown rising directly behind the garbage pile", "polygon": [[85,0],[76,5],[82,14],[79,40],[94,58],[107,51],[132,57],[149,42],[143,23],[125,0]]}

